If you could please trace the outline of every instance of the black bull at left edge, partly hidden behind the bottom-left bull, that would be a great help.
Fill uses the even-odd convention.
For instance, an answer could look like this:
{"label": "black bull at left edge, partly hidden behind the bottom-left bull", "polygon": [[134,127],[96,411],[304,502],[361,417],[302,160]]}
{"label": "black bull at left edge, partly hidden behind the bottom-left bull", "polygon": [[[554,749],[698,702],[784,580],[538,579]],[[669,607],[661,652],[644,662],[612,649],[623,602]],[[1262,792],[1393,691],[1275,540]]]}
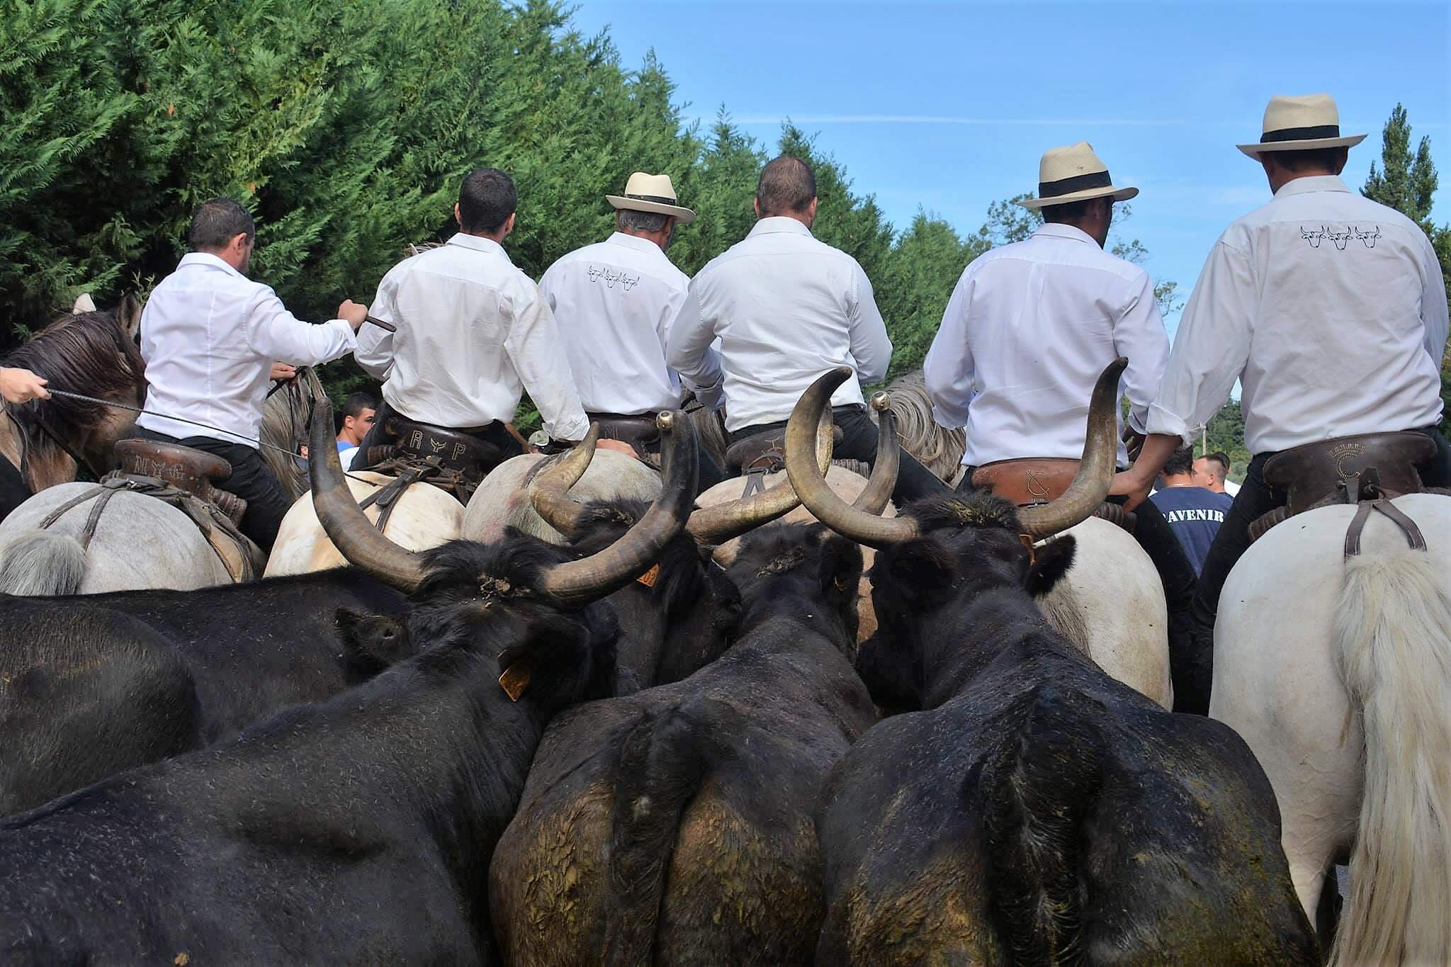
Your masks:
{"label": "black bull at left edge, partly hidden behind the bottom-left bull", "polygon": [[192,592],[0,596],[0,815],[371,677],[398,655],[351,647],[335,615],[406,606],[353,568]]}

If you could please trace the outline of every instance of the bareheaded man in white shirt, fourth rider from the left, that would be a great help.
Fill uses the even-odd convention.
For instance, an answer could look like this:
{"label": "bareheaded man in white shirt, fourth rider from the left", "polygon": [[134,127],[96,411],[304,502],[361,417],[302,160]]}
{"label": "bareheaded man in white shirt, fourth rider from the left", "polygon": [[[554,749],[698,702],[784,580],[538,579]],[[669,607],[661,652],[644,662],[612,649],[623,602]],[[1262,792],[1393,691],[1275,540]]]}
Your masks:
{"label": "bareheaded man in white shirt, fourth rider from the left", "polygon": [[[813,238],[815,174],[805,161],[782,155],[762,168],[755,207],[750,235],[691,280],[666,362],[701,387],[702,399],[724,394],[731,442],[785,426],[817,377],[849,365],[855,375],[831,396],[842,431],[833,455],[872,464],[876,428],[862,383],[887,375],[892,355],[872,283],[855,258]],[[717,338],[718,355],[711,349]],[[903,452],[898,505],[943,489]]]}

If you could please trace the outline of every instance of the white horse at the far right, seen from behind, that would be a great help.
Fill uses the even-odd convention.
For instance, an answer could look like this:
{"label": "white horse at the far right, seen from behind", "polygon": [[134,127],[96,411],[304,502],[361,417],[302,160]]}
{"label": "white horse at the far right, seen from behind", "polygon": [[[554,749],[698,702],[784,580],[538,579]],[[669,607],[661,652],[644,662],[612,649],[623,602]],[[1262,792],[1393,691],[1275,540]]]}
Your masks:
{"label": "white horse at the far right, seen from behind", "polygon": [[1209,713],[1274,786],[1312,921],[1349,857],[1338,964],[1451,963],[1451,497],[1394,506],[1428,549],[1371,513],[1345,558],[1355,509],[1309,510],[1245,552],[1214,625]]}

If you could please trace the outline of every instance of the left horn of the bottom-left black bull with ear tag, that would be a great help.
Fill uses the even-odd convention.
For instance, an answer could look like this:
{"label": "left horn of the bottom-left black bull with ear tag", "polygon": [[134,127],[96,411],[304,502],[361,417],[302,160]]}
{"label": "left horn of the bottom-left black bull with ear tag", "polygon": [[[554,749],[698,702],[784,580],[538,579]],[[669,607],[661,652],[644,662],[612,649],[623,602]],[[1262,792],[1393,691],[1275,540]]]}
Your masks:
{"label": "left horn of the bottom-left black bull with ear tag", "polygon": [[424,561],[405,551],[373,526],[353,491],[348,490],[338,445],[332,432],[332,403],[326,399],[312,406],[308,428],[308,478],[312,483],[312,507],[338,552],[385,584],[412,593],[424,581]]}

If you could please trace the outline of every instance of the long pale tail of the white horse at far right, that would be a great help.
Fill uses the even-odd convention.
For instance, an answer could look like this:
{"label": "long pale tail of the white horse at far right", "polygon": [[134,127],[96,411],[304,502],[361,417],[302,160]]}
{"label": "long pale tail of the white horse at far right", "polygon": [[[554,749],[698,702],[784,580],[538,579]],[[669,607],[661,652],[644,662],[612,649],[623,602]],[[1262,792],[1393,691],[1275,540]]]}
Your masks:
{"label": "long pale tail of the white horse at far right", "polygon": [[1341,676],[1365,734],[1351,896],[1331,964],[1451,963],[1451,599],[1423,551],[1352,557]]}

